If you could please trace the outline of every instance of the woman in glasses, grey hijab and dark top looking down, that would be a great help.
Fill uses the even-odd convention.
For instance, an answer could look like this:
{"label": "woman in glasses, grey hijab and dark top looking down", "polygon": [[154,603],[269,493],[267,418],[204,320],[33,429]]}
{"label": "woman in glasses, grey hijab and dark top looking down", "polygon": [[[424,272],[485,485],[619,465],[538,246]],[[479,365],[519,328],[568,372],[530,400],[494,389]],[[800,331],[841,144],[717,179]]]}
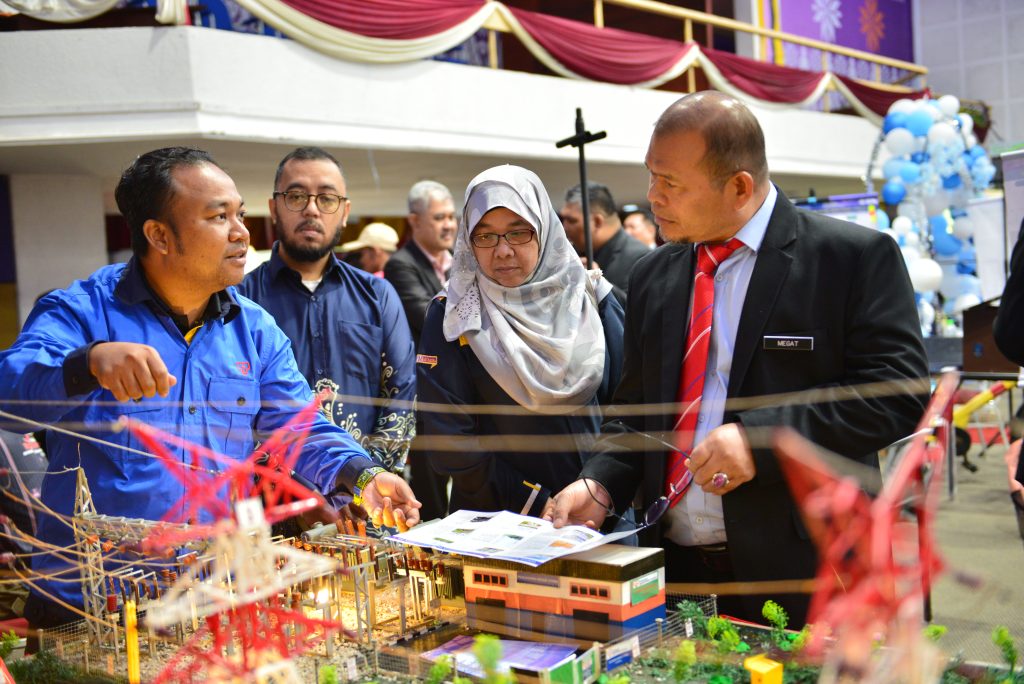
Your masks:
{"label": "woman in glasses, grey hijab and dark top looking down", "polygon": [[429,462],[452,477],[450,512],[540,515],[575,479],[622,370],[610,292],[535,173],[500,166],[470,182],[417,356],[420,401],[446,407],[421,415]]}

